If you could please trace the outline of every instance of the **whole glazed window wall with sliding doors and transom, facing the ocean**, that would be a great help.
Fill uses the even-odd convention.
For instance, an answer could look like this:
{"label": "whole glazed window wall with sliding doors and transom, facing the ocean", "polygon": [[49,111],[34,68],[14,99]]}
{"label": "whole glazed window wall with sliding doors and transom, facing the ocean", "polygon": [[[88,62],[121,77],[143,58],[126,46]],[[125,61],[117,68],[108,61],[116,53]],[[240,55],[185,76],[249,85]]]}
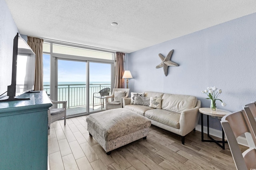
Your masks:
{"label": "whole glazed window wall with sliding doors and transom, facing the ocean", "polygon": [[113,88],[114,52],[45,41],[43,49],[44,90],[52,100],[67,101],[68,117],[106,108],[93,94]]}

